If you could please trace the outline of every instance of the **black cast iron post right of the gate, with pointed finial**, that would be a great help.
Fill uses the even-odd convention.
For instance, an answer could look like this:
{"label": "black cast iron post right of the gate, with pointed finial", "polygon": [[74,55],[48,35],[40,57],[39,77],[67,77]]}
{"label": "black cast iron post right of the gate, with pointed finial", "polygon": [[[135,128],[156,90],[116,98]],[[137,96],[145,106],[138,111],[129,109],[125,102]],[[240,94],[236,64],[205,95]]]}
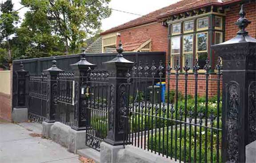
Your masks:
{"label": "black cast iron post right of the gate, with pointed finial", "polygon": [[113,60],[104,62],[109,71],[110,95],[108,96],[108,135],[106,143],[111,145],[123,145],[125,138],[125,119],[122,117],[127,111],[127,73],[132,68],[133,62],[126,60],[123,55],[123,48],[120,42],[117,49],[118,54]]}

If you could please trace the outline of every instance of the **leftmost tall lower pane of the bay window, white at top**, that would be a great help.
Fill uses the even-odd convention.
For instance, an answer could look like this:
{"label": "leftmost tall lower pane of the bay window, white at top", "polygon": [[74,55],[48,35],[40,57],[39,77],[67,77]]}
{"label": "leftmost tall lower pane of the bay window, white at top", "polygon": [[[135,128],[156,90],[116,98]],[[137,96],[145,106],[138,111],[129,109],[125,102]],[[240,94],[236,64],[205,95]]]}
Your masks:
{"label": "leftmost tall lower pane of the bay window, white at top", "polygon": [[171,64],[172,68],[176,65],[177,60],[180,62],[180,36],[172,37],[171,40]]}

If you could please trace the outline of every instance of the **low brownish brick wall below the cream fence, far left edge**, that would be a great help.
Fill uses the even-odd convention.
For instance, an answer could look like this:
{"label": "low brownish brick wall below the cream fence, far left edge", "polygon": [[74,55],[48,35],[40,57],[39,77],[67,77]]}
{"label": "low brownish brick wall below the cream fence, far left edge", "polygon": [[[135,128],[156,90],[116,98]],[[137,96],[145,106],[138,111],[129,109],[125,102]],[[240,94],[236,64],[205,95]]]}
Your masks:
{"label": "low brownish brick wall below the cream fence, far left edge", "polygon": [[11,95],[0,92],[0,118],[12,121]]}

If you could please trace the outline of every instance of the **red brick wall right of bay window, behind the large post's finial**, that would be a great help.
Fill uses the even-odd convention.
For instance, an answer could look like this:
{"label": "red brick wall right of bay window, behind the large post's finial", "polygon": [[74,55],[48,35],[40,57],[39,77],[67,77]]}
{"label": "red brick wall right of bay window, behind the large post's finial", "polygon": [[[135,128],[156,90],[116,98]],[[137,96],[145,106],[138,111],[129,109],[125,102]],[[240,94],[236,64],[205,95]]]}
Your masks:
{"label": "red brick wall right of bay window, behind the large post's finial", "polygon": [[[248,25],[246,30],[249,32],[249,35],[253,38],[256,38],[256,2],[247,3],[244,5],[244,10],[246,12],[246,18],[252,23]],[[227,12],[226,16],[226,32],[225,40],[230,40],[236,36],[238,28],[235,25],[235,22],[239,19],[240,7],[239,4],[231,6],[230,10]]]}

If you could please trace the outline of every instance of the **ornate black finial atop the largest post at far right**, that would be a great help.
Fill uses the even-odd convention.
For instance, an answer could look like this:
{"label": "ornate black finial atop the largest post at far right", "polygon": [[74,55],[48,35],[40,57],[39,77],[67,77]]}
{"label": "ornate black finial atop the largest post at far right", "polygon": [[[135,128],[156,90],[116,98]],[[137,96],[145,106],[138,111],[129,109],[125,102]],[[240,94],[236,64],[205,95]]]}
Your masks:
{"label": "ornate black finial atop the largest post at far right", "polygon": [[238,28],[240,29],[239,32],[237,32],[237,35],[247,35],[248,32],[245,31],[245,28],[251,23],[248,19],[245,18],[246,13],[244,12],[244,4],[241,5],[241,9],[239,12],[240,18],[236,21],[236,25],[238,25]]}

